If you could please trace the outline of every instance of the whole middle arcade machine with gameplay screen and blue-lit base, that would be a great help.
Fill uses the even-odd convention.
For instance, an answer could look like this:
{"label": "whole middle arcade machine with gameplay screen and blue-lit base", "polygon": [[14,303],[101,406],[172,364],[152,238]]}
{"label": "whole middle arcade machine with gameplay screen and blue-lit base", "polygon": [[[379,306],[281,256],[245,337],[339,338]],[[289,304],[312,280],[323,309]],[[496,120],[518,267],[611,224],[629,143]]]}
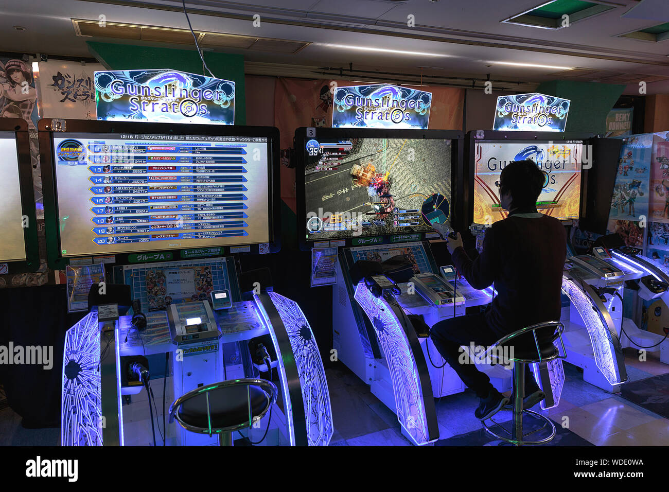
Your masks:
{"label": "whole middle arcade machine with gameplay screen and blue-lit base", "polygon": [[[339,248],[332,286],[337,359],[397,414],[413,444],[434,442],[434,398],[464,385],[429,339],[429,326],[492,298],[492,289],[473,289],[451,265],[440,268],[433,252],[444,246],[434,229],[448,234],[460,211],[454,183],[462,182],[462,133],[302,128],[294,148],[300,247],[312,256]],[[386,276],[379,264],[391,258],[410,266]],[[379,271],[358,278],[352,268],[359,260]],[[500,390],[510,389],[502,367],[487,370]]]}

